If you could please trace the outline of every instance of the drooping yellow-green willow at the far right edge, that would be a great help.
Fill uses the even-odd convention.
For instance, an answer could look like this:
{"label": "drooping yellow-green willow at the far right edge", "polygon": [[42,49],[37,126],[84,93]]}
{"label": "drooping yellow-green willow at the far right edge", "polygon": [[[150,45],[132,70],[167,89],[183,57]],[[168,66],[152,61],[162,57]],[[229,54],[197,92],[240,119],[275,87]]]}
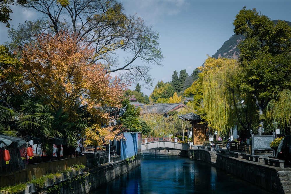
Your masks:
{"label": "drooping yellow-green willow at the far right edge", "polygon": [[267,119],[271,123],[277,123],[286,135],[291,132],[291,91],[279,92],[278,99],[272,99],[267,106]]}

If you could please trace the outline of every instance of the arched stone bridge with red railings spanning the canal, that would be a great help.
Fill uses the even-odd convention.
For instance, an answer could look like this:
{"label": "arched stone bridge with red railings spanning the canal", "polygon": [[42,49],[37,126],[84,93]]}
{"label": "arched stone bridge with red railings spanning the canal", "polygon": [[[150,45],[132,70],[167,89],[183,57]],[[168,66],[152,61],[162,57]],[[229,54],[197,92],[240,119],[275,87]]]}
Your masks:
{"label": "arched stone bridge with red railings spanning the canal", "polygon": [[145,138],[141,151],[148,154],[187,155],[190,148],[188,143],[179,142],[178,138],[152,137]]}

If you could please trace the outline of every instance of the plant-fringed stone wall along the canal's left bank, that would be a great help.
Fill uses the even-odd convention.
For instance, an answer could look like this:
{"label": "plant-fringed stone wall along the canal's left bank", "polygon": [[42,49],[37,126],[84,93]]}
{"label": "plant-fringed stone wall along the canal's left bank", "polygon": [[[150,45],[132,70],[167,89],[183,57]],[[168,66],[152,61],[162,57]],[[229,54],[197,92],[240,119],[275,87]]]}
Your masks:
{"label": "plant-fringed stone wall along the canal's left bank", "polygon": [[[130,170],[138,167],[141,164],[141,156],[137,155],[134,159],[116,161],[110,164],[103,164],[100,167],[89,170],[87,172],[78,172],[74,174],[70,179],[55,179],[53,184],[47,187],[46,192],[49,189],[56,188],[51,193],[89,193],[99,186],[106,184],[113,179],[129,172]],[[26,194],[31,193],[31,186],[27,186]]]}

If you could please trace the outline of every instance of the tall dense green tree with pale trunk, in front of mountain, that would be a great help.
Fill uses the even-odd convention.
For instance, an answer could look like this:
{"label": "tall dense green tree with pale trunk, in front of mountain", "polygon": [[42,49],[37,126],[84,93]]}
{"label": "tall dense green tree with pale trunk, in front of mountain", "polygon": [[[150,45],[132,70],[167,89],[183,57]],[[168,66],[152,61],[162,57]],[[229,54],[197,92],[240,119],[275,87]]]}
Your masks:
{"label": "tall dense green tree with pale trunk, in front of mountain", "polygon": [[276,25],[255,8],[244,7],[235,17],[234,32],[246,39],[239,44],[239,63],[243,68],[241,91],[253,96],[258,110],[258,134],[262,135],[265,113],[270,100],[279,91],[290,89],[291,28],[283,21]]}

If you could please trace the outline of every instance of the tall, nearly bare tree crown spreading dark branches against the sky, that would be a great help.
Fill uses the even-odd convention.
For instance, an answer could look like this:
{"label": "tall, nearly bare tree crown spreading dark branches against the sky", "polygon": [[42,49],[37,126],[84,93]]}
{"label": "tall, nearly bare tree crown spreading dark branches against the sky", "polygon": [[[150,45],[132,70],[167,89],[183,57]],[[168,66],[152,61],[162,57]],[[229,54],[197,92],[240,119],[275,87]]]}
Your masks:
{"label": "tall, nearly bare tree crown spreading dark branches against the sky", "polygon": [[[20,25],[19,30],[10,33],[16,37],[14,42],[30,42],[35,39],[35,32],[58,34],[68,31],[76,37],[76,44],[82,41],[94,49],[93,54],[97,57],[91,62],[104,64],[106,73],[116,72],[123,81],[142,80],[152,84],[149,65],[161,65],[163,58],[158,47],[159,34],[146,26],[141,18],[126,15],[120,2],[40,0],[29,1],[23,6],[38,11],[43,18],[34,22],[36,25],[27,22],[29,26]],[[29,28],[31,25],[38,28]],[[25,36],[21,35],[23,32]],[[118,61],[116,53],[127,54],[124,62]],[[136,63],[136,59],[143,63]]]}

